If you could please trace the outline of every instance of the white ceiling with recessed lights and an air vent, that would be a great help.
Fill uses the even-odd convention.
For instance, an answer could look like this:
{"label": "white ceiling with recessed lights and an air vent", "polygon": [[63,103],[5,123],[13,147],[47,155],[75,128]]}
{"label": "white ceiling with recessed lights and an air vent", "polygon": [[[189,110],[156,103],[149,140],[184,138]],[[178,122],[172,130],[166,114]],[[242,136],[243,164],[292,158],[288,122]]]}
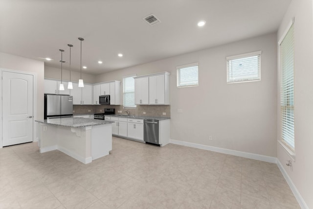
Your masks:
{"label": "white ceiling with recessed lights and an air vent", "polygon": [[[64,49],[63,67],[69,69],[72,44],[71,70],[79,71],[82,37],[83,72],[101,74],[275,32],[290,2],[0,0],[0,51],[60,68]],[[160,23],[146,23],[150,14]],[[198,27],[201,20],[206,24]]]}

